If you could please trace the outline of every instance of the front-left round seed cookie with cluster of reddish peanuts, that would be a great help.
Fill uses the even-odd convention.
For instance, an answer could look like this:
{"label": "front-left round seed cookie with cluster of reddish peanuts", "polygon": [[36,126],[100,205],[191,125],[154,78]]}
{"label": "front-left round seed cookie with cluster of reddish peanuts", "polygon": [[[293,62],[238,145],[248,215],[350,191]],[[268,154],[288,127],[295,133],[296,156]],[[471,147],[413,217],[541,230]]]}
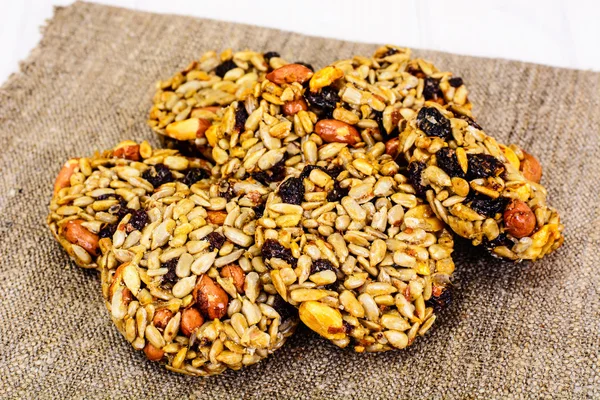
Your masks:
{"label": "front-left round seed cookie with cluster of reddish peanuts", "polygon": [[268,189],[254,181],[163,184],[118,223],[99,259],[112,320],[136,350],[189,375],[255,364],[283,345],[297,312],[263,284],[254,243]]}

